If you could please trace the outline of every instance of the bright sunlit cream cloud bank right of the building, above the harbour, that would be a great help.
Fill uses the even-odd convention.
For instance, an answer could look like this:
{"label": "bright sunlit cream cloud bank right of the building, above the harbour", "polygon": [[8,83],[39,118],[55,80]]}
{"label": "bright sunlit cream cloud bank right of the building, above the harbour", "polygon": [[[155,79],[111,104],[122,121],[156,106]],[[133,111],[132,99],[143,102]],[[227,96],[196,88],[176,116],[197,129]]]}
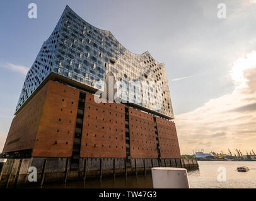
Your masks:
{"label": "bright sunlit cream cloud bank right of the building, above the harbour", "polygon": [[256,149],[256,52],[237,58],[230,76],[231,93],[175,117],[182,153]]}

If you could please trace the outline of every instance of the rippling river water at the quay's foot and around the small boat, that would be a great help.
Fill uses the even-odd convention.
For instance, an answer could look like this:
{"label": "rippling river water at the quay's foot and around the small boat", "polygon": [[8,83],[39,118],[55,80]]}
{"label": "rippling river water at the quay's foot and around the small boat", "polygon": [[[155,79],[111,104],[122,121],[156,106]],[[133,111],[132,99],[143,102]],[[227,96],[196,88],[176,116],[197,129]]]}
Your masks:
{"label": "rippling river water at the quay's foot and around the small boat", "polygon": [[[188,171],[190,188],[256,188],[256,161],[198,161],[199,170]],[[238,166],[248,166],[247,172],[238,172]],[[218,171],[219,169],[219,171]],[[226,172],[226,174],[225,174]],[[219,175],[221,174],[221,175]],[[219,181],[218,181],[219,175]],[[225,176],[226,175],[226,176]],[[226,180],[226,181],[225,181]],[[48,183],[43,188],[152,188],[151,174],[87,179],[63,183]]]}

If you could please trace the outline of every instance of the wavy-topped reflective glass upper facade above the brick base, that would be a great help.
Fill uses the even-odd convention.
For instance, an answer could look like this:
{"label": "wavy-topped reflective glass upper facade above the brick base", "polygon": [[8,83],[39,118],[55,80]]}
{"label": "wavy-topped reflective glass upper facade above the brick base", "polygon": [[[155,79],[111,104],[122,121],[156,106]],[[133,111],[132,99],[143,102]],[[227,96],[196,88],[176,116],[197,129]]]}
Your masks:
{"label": "wavy-topped reflective glass upper facade above the brick base", "polygon": [[[129,52],[110,31],[95,28],[68,6],[26,75],[16,111],[50,72],[95,89],[101,89],[98,83],[105,80],[108,72],[112,72],[117,81],[127,85],[129,81],[161,84],[162,103],[156,111],[174,118],[164,63],[156,62],[149,52],[141,55]],[[153,96],[160,93],[152,85],[149,86],[150,91]],[[143,97],[143,92],[129,90],[129,97],[135,98],[136,95]],[[130,98],[129,102],[135,100]],[[151,109],[154,103],[148,101],[137,104]]]}

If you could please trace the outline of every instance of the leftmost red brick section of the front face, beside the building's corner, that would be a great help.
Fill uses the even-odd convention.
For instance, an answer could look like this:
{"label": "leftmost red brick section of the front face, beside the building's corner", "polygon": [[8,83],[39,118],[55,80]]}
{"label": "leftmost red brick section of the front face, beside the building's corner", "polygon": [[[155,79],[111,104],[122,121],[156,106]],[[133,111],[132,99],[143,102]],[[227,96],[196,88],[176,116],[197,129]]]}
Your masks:
{"label": "leftmost red brick section of the front face, beside the building's corner", "polygon": [[48,84],[32,156],[69,157],[73,151],[79,90],[52,81]]}

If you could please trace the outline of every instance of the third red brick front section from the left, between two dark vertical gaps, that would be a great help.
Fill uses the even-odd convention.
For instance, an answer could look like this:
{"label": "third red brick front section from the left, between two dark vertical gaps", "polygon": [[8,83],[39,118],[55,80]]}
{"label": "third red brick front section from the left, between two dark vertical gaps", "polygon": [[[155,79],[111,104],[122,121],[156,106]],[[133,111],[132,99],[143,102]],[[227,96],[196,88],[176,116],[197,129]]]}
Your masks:
{"label": "third red brick front section from the left, between two dark vertical gaps", "polygon": [[157,158],[153,116],[129,107],[132,158]]}

